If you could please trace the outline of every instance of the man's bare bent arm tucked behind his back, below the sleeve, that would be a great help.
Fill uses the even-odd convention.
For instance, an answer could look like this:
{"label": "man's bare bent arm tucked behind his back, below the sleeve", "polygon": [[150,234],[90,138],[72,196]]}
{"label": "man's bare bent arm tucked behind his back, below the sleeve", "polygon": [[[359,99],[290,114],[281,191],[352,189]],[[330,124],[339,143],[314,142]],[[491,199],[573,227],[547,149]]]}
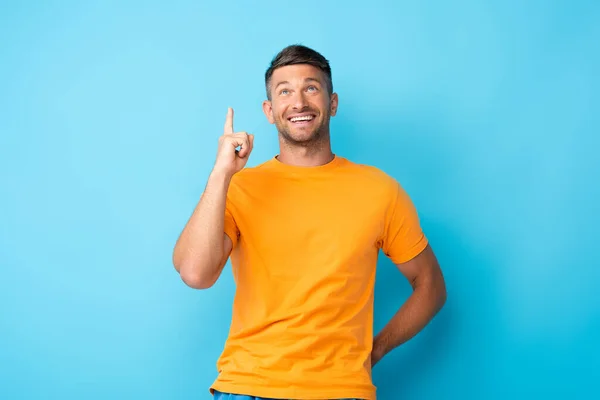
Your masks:
{"label": "man's bare bent arm tucked behind his back, below the sleeve", "polygon": [[412,260],[398,264],[413,292],[390,322],[375,336],[371,365],[419,333],[446,302],[446,285],[429,245]]}

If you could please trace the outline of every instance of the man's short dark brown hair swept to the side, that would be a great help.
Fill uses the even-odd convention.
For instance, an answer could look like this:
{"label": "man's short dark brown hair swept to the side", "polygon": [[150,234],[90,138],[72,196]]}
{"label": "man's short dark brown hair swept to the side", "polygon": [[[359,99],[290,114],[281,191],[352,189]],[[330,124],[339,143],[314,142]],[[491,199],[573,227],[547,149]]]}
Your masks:
{"label": "man's short dark brown hair swept to the side", "polygon": [[273,71],[286,65],[295,64],[309,64],[320,69],[325,74],[327,80],[327,90],[331,96],[333,93],[333,83],[331,80],[331,67],[329,65],[329,61],[319,52],[309,47],[300,44],[293,44],[281,50],[273,58],[271,65],[267,69],[267,72],[265,72],[265,86],[267,89],[267,98],[269,100],[271,100],[271,91],[269,90],[269,86],[271,85],[271,76],[273,75]]}

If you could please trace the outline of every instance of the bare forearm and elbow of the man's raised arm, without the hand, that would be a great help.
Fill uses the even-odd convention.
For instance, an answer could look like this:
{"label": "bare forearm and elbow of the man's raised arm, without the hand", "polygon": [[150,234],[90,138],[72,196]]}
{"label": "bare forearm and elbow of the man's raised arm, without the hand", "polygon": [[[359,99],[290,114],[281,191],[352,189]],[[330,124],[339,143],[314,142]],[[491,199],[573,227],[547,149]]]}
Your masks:
{"label": "bare forearm and elbow of the man's raised arm, without the hand", "polygon": [[173,265],[195,289],[207,289],[219,278],[231,249],[224,233],[225,202],[231,176],[214,172],[173,250]]}

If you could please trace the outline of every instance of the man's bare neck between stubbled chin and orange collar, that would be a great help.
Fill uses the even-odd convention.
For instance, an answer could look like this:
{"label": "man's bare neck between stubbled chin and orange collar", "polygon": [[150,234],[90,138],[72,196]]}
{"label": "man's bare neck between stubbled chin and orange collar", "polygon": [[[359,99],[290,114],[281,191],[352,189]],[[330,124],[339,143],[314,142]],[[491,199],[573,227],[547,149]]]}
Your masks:
{"label": "man's bare neck between stubbled chin and orange collar", "polygon": [[277,159],[284,164],[299,167],[316,167],[324,165],[333,160],[329,140],[318,142],[292,144],[279,138],[279,155]]}

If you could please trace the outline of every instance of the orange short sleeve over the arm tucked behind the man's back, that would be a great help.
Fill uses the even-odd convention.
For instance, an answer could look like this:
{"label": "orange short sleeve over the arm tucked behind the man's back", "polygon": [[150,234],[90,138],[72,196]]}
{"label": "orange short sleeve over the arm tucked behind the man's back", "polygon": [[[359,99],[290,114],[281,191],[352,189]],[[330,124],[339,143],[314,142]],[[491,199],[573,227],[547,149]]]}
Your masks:
{"label": "orange short sleeve over the arm tucked behind the man's back", "polygon": [[392,262],[401,264],[421,253],[428,241],[412,200],[397,182],[391,198],[385,214],[381,248]]}

